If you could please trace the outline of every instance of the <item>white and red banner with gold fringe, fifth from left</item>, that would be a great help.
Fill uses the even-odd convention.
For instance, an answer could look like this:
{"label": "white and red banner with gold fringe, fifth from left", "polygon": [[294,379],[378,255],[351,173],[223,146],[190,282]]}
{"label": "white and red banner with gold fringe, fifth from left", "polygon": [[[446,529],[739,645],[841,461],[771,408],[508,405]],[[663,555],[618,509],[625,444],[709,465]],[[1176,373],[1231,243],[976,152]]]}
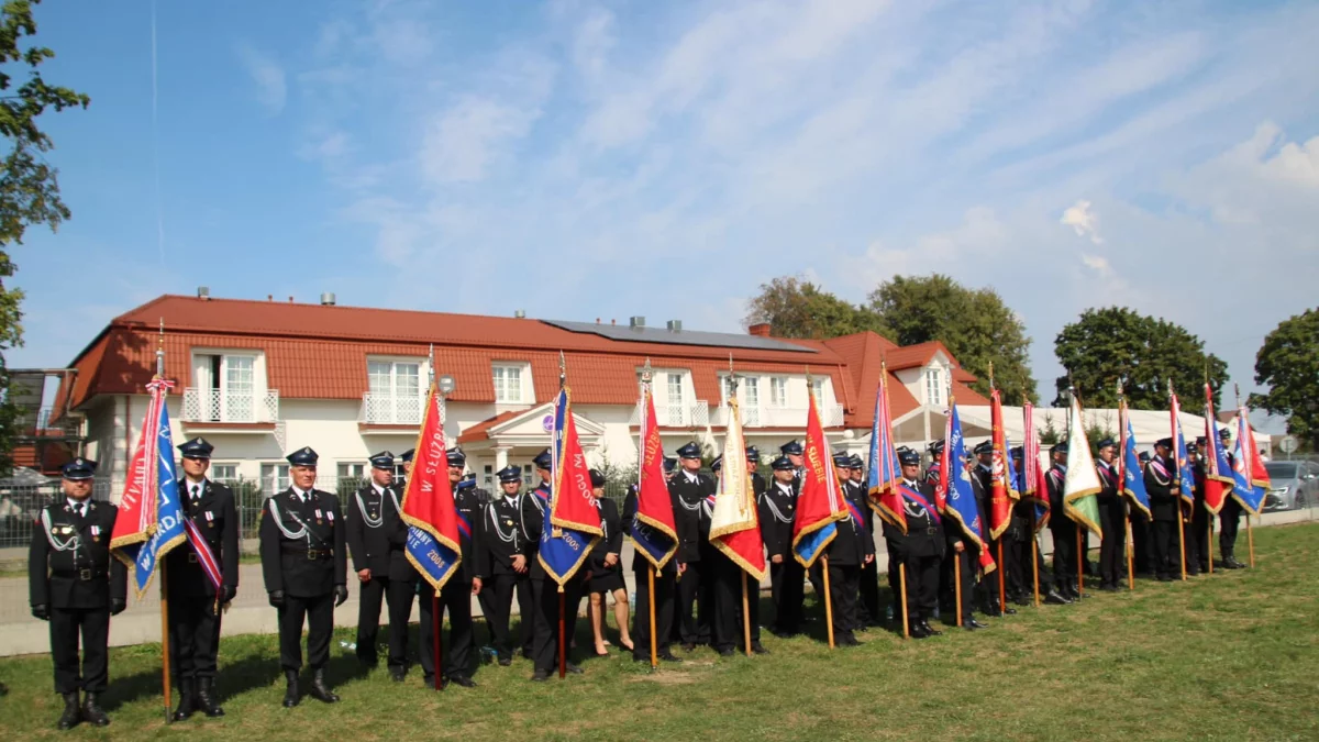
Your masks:
{"label": "white and red banner with gold fringe, fifth from left", "polygon": [[728,400],[728,434],[724,437],[724,465],[719,470],[719,490],[710,516],[710,543],[748,574],[765,578],[765,544],[756,519],[756,492],[747,471],[747,441],[743,440],[737,400]]}

